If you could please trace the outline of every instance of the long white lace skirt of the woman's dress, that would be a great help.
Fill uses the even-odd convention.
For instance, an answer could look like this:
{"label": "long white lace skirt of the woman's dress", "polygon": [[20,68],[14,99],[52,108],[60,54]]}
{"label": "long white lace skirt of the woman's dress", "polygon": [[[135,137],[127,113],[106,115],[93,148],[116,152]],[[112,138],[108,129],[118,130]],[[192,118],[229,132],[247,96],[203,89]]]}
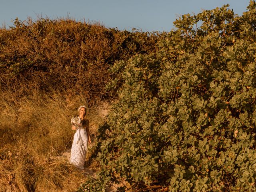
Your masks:
{"label": "long white lace skirt of the woman's dress", "polygon": [[74,134],[74,140],[71,148],[70,164],[77,168],[84,168],[88,146],[88,136],[85,128],[78,128]]}

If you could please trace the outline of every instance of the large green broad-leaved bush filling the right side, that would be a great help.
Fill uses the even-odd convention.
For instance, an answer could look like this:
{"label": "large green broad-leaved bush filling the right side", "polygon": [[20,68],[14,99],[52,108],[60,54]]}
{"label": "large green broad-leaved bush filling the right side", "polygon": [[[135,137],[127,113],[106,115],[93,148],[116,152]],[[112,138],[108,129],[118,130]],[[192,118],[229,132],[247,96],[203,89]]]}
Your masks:
{"label": "large green broad-leaved bush filling the right side", "polygon": [[158,52],[114,64],[101,170],[81,191],[256,190],[256,3],[174,24]]}

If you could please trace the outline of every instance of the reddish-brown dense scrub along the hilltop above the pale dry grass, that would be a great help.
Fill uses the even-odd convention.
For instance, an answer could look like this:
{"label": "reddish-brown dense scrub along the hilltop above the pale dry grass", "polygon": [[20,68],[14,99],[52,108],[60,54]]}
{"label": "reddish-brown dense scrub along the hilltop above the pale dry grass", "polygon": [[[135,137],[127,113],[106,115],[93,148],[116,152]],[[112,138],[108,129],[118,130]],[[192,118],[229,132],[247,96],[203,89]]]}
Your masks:
{"label": "reddish-brown dense scrub along the hilltop above the pale dry grass", "polygon": [[7,88],[20,98],[34,90],[54,89],[95,100],[104,95],[107,70],[116,60],[153,51],[157,39],[154,33],[70,19],[17,18],[14,27],[0,30],[1,90]]}

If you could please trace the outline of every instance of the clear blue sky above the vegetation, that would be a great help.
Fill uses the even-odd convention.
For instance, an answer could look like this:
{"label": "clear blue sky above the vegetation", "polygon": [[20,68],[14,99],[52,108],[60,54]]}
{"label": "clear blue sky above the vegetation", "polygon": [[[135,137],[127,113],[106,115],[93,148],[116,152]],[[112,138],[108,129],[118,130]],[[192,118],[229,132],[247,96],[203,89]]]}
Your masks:
{"label": "clear blue sky above the vegetation", "polygon": [[18,17],[75,18],[100,22],[119,30],[170,31],[178,16],[229,4],[242,15],[249,0],[0,0],[0,26],[13,26]]}

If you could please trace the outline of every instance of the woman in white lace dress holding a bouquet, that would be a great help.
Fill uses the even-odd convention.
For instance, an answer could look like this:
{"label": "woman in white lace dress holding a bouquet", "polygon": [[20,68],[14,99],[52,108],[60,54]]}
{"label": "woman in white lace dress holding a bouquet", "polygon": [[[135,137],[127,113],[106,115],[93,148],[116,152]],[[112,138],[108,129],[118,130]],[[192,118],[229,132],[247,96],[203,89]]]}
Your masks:
{"label": "woman in white lace dress holding a bouquet", "polygon": [[72,130],[76,130],[76,133],[71,148],[70,163],[77,168],[84,169],[87,146],[91,143],[86,106],[80,106],[78,114],[78,117],[71,119]]}

